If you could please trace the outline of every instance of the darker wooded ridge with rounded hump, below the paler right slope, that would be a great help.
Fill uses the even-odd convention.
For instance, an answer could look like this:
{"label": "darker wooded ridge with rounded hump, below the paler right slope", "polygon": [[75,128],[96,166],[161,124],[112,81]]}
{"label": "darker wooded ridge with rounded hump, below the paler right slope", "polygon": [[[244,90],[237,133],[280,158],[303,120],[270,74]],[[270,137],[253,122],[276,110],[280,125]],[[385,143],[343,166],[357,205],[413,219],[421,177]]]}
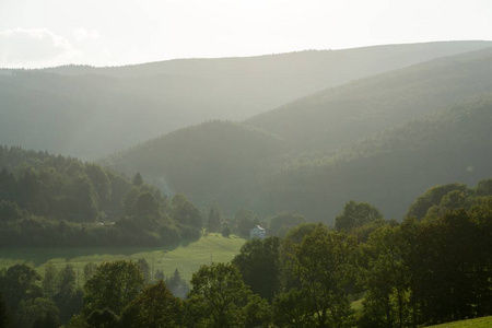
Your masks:
{"label": "darker wooded ridge with rounded hump, below the paler right slope", "polygon": [[218,203],[229,213],[290,211],[333,223],[343,204],[356,200],[401,219],[431,186],[492,177],[491,126],[492,95],[481,94],[325,157],[302,157],[272,134],[214,121],[149,141],[104,164],[127,174],[140,171],[169,194],[186,192],[199,206]]}

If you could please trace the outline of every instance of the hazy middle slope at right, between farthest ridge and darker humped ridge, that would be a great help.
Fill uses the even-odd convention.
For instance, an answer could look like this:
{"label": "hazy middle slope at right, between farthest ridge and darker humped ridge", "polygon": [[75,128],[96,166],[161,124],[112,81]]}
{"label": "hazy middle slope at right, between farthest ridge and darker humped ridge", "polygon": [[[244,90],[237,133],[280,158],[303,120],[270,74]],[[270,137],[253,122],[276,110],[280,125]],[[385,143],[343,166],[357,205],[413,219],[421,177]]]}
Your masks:
{"label": "hazy middle slope at right, between farthest ridge and darker humped ridge", "polygon": [[431,60],[300,98],[245,122],[326,152],[492,90],[492,48]]}

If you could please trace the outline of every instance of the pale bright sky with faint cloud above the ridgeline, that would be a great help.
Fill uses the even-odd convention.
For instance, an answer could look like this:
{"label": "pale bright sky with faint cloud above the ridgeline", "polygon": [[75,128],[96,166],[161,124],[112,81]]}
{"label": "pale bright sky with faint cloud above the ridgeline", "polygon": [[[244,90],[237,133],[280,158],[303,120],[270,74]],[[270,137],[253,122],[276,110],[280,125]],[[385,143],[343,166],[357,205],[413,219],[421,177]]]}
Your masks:
{"label": "pale bright sky with faint cloud above the ridgeline", "polygon": [[492,40],[490,0],[0,0],[0,68]]}

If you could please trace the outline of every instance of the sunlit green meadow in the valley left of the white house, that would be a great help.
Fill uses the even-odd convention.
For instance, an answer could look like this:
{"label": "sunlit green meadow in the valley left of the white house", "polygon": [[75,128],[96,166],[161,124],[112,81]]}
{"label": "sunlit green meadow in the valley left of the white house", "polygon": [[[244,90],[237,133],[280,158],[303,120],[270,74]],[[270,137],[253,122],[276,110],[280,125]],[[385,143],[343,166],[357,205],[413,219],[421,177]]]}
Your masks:
{"label": "sunlit green meadow in the valley left of the white house", "polygon": [[244,238],[231,235],[208,234],[197,242],[174,247],[71,247],[71,248],[0,248],[0,269],[16,263],[34,266],[44,273],[46,262],[51,261],[58,269],[71,263],[79,272],[82,282],[83,267],[87,262],[101,263],[114,260],[137,260],[144,258],[151,269],[160,269],[168,277],[178,269],[186,280],[191,279],[200,266],[231,261],[239,253]]}

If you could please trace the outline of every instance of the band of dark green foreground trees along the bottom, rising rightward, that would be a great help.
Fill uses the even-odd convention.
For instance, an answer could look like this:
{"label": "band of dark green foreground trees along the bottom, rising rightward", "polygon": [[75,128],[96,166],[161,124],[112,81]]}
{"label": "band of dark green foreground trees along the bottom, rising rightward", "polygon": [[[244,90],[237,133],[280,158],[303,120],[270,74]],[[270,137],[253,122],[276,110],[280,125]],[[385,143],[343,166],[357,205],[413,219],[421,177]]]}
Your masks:
{"label": "band of dark green foreground trees along the bottom, rising rightward", "polygon": [[0,271],[0,319],[2,327],[420,327],[488,316],[491,218],[492,179],[434,186],[401,223],[350,201],[332,227],[301,220],[282,237],[248,241],[231,263],[202,266],[185,297],[175,295],[178,273],[152,277],[141,260],[90,263],[83,285],[70,265],[48,266],[44,277],[16,265]]}

